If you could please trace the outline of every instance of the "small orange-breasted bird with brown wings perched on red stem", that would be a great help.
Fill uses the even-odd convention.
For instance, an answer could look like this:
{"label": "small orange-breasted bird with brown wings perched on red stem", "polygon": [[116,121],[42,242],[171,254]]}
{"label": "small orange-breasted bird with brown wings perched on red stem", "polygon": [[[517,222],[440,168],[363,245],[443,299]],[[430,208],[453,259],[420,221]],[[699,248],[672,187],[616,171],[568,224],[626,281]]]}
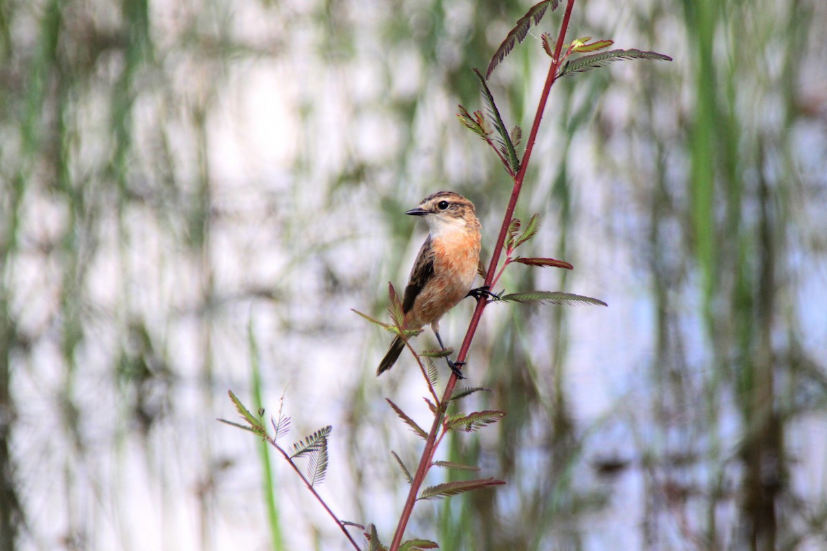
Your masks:
{"label": "small orange-breasted bird with brown wings perched on red stem", "polygon": [[[419,249],[408,287],[402,300],[403,329],[418,330],[430,324],[439,336],[439,319],[471,291],[480,262],[480,221],[474,203],[455,192],[436,192],[405,214],[423,216],[431,233]],[[404,349],[402,337],[395,337],[376,375],[392,368]],[[453,367],[455,373],[459,374]]]}

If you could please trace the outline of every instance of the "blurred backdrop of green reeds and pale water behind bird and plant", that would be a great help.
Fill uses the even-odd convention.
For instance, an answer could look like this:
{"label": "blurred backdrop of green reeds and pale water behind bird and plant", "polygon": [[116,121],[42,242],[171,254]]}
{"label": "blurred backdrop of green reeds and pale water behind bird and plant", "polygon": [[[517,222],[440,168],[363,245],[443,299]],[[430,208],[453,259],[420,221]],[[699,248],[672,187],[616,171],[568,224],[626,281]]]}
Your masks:
{"label": "blurred backdrop of green reeds and pale water behind bird and plant", "polygon": [[[390,542],[430,424],[385,316],[431,192],[510,193],[456,119],[532,2],[0,2],[0,549],[350,549],[227,390],[333,425],[320,492]],[[549,12],[490,80],[528,135]],[[827,549],[827,3],[577,2],[628,61],[552,89],[543,225],[466,368],[508,416],[442,458],[441,549]],[[499,291],[499,289],[497,289]],[[442,323],[458,346],[472,310]],[[417,344],[430,348],[433,335]],[[442,379],[447,379],[446,371]],[[452,473],[433,472],[428,484]],[[358,530],[353,530],[361,540]]]}

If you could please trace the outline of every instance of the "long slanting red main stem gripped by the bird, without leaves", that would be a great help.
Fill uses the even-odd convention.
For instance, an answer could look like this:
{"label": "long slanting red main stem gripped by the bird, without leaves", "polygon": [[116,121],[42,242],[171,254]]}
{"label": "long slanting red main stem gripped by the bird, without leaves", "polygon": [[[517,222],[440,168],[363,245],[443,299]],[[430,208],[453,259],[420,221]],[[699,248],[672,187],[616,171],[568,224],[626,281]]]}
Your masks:
{"label": "long slanting red main stem gripped by the bird, without leaves", "polygon": [[[534,115],[534,122],[531,126],[531,133],[528,135],[525,154],[523,154],[519,172],[516,176],[514,176],[514,188],[511,190],[509,206],[505,209],[503,225],[500,226],[500,235],[497,237],[497,244],[491,254],[491,263],[489,264],[488,272],[485,275],[485,285],[488,287],[490,287],[491,283],[494,281],[497,264],[500,262],[500,253],[503,249],[503,244],[505,243],[505,235],[508,233],[511,219],[514,217],[514,208],[517,207],[519,192],[523,188],[523,178],[525,178],[525,172],[526,169],[528,169],[528,159],[531,159],[531,152],[534,149],[534,142],[537,140],[537,132],[540,128],[540,121],[543,119],[543,112],[546,110],[548,93],[551,92],[552,84],[557,79],[557,70],[560,68],[560,52],[562,50],[563,40],[566,40],[566,30],[568,29],[569,19],[571,18],[571,8],[574,7],[574,2],[575,0],[568,0],[568,3],[566,4],[566,12],[563,14],[563,21],[560,25],[560,33],[557,35],[557,47],[554,51],[552,65],[548,68],[546,83],[543,85],[543,93],[540,95],[537,113]],[[471,324],[468,325],[465,340],[462,341],[459,354],[457,354],[457,363],[462,363],[465,361],[466,356],[468,355],[468,349],[471,348],[471,340],[474,340],[477,325],[480,325],[482,311],[485,310],[485,305],[487,304],[488,300],[485,297],[480,297],[477,299],[474,315],[471,316]],[[390,544],[389,551],[398,551],[399,545],[402,543],[402,536],[404,534],[405,527],[408,525],[411,512],[414,511],[416,496],[419,492],[419,488],[422,487],[422,483],[425,480],[425,475],[428,473],[428,468],[431,465],[433,454],[436,452],[435,444],[437,441],[437,434],[439,433],[439,427],[442,424],[442,416],[445,415],[445,411],[448,407],[448,401],[451,400],[455,387],[457,387],[457,374],[452,373],[451,378],[448,379],[448,383],[445,387],[445,392],[442,393],[442,400],[439,402],[439,406],[437,406],[437,413],[433,417],[433,425],[431,425],[431,431],[428,433],[428,439],[425,440],[425,449],[423,449],[422,458],[419,460],[419,465],[416,469],[416,473],[414,474],[414,481],[411,482],[410,491],[408,492],[408,499],[405,501],[402,509],[402,515],[399,516],[399,525],[396,526],[396,532],[394,533],[394,539]]]}

